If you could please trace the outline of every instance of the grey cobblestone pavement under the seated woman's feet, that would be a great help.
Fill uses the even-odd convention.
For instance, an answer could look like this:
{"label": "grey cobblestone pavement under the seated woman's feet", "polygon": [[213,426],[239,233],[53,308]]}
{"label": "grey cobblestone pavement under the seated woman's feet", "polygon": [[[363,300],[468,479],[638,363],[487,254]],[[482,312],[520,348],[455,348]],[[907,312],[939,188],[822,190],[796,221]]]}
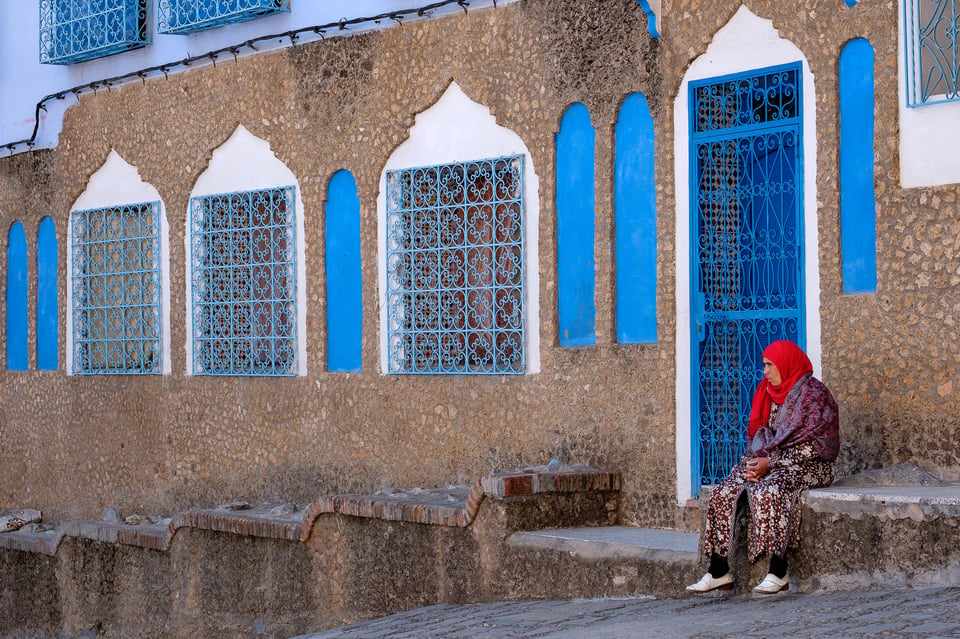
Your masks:
{"label": "grey cobblestone pavement under the seated woman's feet", "polygon": [[960,638],[960,587],[442,604],[298,639]]}

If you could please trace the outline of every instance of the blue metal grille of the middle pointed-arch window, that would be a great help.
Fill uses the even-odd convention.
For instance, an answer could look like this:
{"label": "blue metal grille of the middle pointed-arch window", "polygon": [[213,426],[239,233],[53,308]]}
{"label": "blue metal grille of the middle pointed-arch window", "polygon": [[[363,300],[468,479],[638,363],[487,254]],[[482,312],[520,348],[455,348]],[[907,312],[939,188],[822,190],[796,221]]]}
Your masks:
{"label": "blue metal grille of the middle pointed-arch window", "polygon": [[294,187],[190,200],[193,372],[296,374]]}

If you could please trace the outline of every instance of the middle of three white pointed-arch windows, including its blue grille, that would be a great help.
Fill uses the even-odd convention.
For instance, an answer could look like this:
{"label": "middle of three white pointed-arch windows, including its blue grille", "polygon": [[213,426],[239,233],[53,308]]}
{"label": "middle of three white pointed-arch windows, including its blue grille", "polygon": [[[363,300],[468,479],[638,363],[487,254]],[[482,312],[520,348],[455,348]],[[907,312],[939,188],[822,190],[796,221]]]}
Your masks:
{"label": "middle of three white pointed-arch windows, including its blue grille", "polygon": [[293,173],[244,127],[214,151],[187,221],[192,374],[306,373],[302,208]]}

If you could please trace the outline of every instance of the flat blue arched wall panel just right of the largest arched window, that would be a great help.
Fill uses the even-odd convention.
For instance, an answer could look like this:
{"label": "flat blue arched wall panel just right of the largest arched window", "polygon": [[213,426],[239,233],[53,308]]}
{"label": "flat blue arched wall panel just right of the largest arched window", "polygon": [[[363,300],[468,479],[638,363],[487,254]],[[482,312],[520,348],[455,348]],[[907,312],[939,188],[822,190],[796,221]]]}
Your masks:
{"label": "flat blue arched wall panel just right of the largest arched window", "polygon": [[560,346],[597,343],[593,301],[594,138],[590,111],[577,102],[557,134],[557,302]]}

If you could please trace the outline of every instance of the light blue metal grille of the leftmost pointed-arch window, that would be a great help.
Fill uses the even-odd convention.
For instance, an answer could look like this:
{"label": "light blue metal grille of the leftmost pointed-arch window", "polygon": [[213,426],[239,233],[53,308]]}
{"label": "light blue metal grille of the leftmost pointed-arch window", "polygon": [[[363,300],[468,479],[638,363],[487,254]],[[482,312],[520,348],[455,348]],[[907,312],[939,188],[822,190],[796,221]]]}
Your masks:
{"label": "light blue metal grille of the leftmost pointed-arch window", "polygon": [[73,372],[161,371],[160,203],[70,215]]}

